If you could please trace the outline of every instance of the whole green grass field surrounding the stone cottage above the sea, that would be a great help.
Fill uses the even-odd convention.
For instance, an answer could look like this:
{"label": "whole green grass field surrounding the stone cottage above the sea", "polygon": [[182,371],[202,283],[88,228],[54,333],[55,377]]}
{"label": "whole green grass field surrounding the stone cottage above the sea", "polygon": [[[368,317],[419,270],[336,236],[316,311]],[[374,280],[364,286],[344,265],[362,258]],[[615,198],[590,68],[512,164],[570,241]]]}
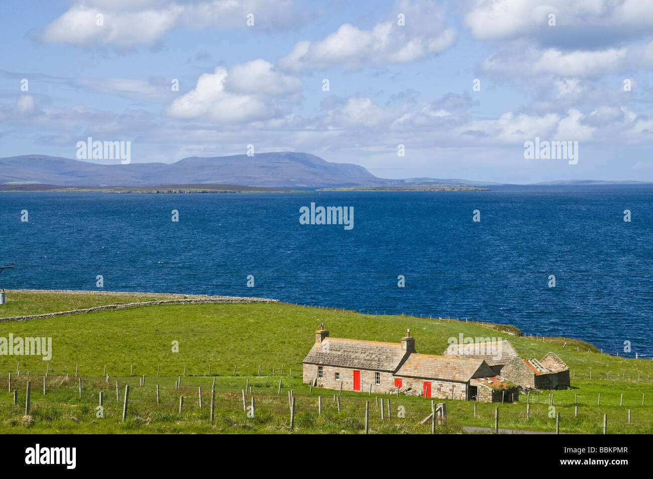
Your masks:
{"label": "whole green grass field surrounding the stone cottage above the sea", "polygon": [[[138,295],[10,292],[7,305],[0,306],[0,317],[16,316],[16,312],[38,314],[152,299],[150,296],[138,299]],[[313,388],[310,393],[309,386],[302,384],[301,365],[320,322],[325,323],[332,337],[392,342],[398,342],[409,327],[416,338],[417,351],[424,354],[441,354],[448,345],[447,339],[458,337],[459,333],[507,338],[522,357],[539,359],[553,351],[567,362],[571,374],[575,375],[572,389],[553,392],[554,412],[560,412],[562,432],[600,433],[603,414],[608,414],[609,433],[653,433],[653,387],[649,382],[653,361],[600,354],[578,340],[512,336],[472,322],[376,316],[279,303],[144,306],[27,322],[0,322],[0,337],[8,337],[9,333],[14,337],[52,337],[53,349],[50,361],[35,356],[0,355],[0,433],[287,433],[289,389],[295,391],[297,433],[360,433],[365,401],[370,401],[371,433],[430,432],[430,425],[420,424],[430,412],[428,399],[383,396],[384,400],[390,398],[392,419],[386,416],[381,421],[375,396],[343,391],[339,413],[333,400],[337,391]],[[178,342],[178,352],[172,351],[174,342]],[[567,344],[563,348],[564,342]],[[17,378],[18,361],[20,377]],[[46,362],[49,362],[49,384],[48,393],[43,395]],[[82,377],[82,397],[74,378],[76,365]],[[108,384],[103,377],[105,365],[106,374],[110,375]],[[280,376],[282,365],[283,376]],[[13,404],[13,393],[8,390],[10,372],[12,389],[18,391],[17,405]],[[31,377],[28,378],[27,372]],[[139,376],[143,374],[146,384],[141,388]],[[175,389],[174,382],[180,375],[182,387]],[[215,420],[211,424],[208,404],[214,378]],[[25,418],[28,379],[31,380],[31,412]],[[120,401],[116,400],[116,380]],[[257,401],[254,418],[247,418],[243,410],[242,389],[246,382],[253,387]],[[131,390],[128,420],[123,423],[121,400],[125,384],[130,384]],[[161,404],[156,402],[156,384],[160,385]],[[199,408],[199,387],[202,408]],[[96,418],[99,391],[104,393],[104,418]],[[600,405],[597,404],[599,393]],[[643,394],[646,395],[644,406]],[[178,412],[180,395],[185,398],[182,414]],[[319,395],[323,401],[321,416],[317,415]],[[474,403],[436,400],[447,403],[448,410],[448,424],[438,427],[438,432],[462,432],[464,426],[490,427],[494,425],[497,406],[500,427],[552,431],[555,420],[549,417],[549,391],[531,395],[531,399],[534,403],[530,405],[528,419],[525,395],[515,404],[477,403],[476,417]],[[247,395],[248,404],[249,401]],[[579,406],[577,418],[575,405]],[[405,418],[397,417],[400,406],[405,410]],[[631,424],[628,424],[628,410],[631,410]]]}

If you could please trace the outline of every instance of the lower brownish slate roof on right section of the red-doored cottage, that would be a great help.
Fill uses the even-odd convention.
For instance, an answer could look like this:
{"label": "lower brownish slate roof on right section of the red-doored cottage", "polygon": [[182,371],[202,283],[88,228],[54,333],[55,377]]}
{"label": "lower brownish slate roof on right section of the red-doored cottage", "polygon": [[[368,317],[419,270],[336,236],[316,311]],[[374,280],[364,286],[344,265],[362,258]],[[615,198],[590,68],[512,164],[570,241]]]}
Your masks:
{"label": "lower brownish slate roof on right section of the red-doored cottage", "polygon": [[496,376],[483,359],[411,354],[395,376],[467,382],[471,378]]}

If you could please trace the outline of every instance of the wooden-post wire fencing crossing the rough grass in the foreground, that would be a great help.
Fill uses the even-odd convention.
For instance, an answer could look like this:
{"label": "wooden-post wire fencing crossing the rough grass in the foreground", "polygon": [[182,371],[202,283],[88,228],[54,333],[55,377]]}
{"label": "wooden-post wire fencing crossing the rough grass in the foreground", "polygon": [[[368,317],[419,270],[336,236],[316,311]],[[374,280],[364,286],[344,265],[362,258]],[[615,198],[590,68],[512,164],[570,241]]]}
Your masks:
{"label": "wooden-post wire fencing crossing the rough grass in the foreground", "polygon": [[[518,402],[502,404],[306,389],[299,378],[279,376],[126,376],[106,382],[104,376],[21,375],[12,376],[9,384],[9,375],[2,374],[0,415],[17,423],[21,416],[75,422],[121,422],[124,417],[144,423],[219,423],[261,432],[431,433],[469,432],[469,427],[492,432],[498,408],[500,428],[601,433],[607,414],[607,433],[653,432],[653,408],[646,404],[646,394],[634,392],[601,397],[569,390],[528,393]],[[428,418],[435,403],[447,405],[447,416],[433,427],[435,421]]]}

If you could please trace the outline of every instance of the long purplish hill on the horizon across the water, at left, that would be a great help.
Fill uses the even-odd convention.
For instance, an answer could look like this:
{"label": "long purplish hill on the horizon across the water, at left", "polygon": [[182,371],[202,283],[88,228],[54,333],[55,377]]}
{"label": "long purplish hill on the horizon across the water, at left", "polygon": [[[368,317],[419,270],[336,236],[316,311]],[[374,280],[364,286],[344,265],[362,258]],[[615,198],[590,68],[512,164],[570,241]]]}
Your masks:
{"label": "long purplish hill on the horizon across the water, at left", "polygon": [[268,188],[325,188],[388,184],[364,167],[331,163],[308,153],[189,157],[175,163],[99,165],[45,155],[0,158],[0,184],[151,186],[229,184]]}

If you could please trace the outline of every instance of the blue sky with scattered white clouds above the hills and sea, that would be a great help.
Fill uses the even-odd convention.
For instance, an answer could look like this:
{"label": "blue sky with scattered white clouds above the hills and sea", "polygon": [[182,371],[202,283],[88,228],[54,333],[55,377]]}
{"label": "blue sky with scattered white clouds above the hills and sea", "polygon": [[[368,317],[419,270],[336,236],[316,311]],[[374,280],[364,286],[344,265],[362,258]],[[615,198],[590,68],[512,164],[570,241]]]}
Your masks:
{"label": "blue sky with scattered white clouds above the hills and sea", "polygon": [[[653,181],[650,1],[1,8],[0,157],[74,158],[91,136],[133,163],[253,144],[385,178]],[[577,141],[578,163],[524,158],[535,137]]]}

